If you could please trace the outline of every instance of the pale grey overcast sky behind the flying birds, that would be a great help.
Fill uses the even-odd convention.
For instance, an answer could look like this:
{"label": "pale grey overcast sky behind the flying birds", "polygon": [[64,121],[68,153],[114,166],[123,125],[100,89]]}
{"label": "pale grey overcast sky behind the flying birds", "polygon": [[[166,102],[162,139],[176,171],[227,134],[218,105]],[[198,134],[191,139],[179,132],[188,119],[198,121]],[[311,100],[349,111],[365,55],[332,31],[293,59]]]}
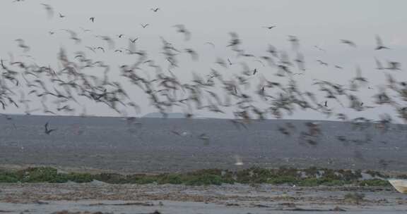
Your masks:
{"label": "pale grey overcast sky behind the flying birds", "polygon": [[[48,18],[44,6],[54,8],[54,17]],[[187,1],[187,0],[155,0],[155,1],[97,1],[97,0],[52,0],[37,1],[13,0],[0,1],[0,57],[8,60],[9,53],[16,59],[24,54],[18,48],[15,39],[24,39],[30,46],[27,59],[57,67],[57,52],[60,47],[68,51],[84,51],[84,46],[100,46],[105,44],[95,35],[115,37],[116,48],[125,47],[127,38],[139,38],[136,47],[148,51],[151,58],[162,58],[160,55],[160,37],[167,39],[177,47],[193,48],[198,51],[199,61],[192,62],[187,54],[180,59],[182,68],[175,70],[177,75],[188,80],[191,72],[205,74],[216,68],[217,57],[240,60],[232,56],[226,49],[230,39],[229,32],[237,32],[242,39],[242,47],[256,56],[265,54],[267,46],[273,44],[279,50],[293,53],[288,35],[300,39],[300,50],[307,61],[306,75],[298,77],[302,87],[309,87],[313,79],[334,80],[346,84],[355,75],[355,67],[360,66],[372,86],[384,84],[384,73],[374,70],[374,58],[383,61],[406,62],[407,51],[407,1],[374,1],[374,0],[257,0],[257,1]],[[151,8],[160,8],[158,12]],[[59,13],[65,18],[59,18]],[[95,17],[95,22],[89,18]],[[143,28],[141,24],[148,23]],[[191,32],[191,40],[185,42],[182,34],[176,32],[174,25],[183,24]],[[276,25],[269,30],[264,26]],[[83,32],[81,27],[92,30]],[[69,34],[61,29],[78,32],[83,39],[81,44],[74,44]],[[55,32],[50,35],[49,31]],[[124,34],[126,39],[117,38]],[[374,51],[374,37],[379,35],[391,50]],[[350,39],[358,45],[356,49],[341,44],[340,39]],[[206,42],[212,42],[215,47]],[[325,51],[319,51],[319,46]],[[119,65],[129,62],[129,56],[117,56],[112,53],[88,53],[89,56],[106,61],[112,65],[112,78],[118,76]],[[294,55],[293,55],[294,56]],[[325,68],[317,60],[329,63]],[[160,61],[159,61],[160,62]],[[271,68],[249,62],[259,72],[268,77]],[[343,70],[335,70],[333,65],[341,65]],[[114,69],[116,68],[116,69]],[[238,68],[238,67],[237,67]],[[235,69],[239,71],[240,69]],[[232,68],[228,73],[235,72]],[[399,79],[405,80],[405,70],[394,73]],[[125,83],[124,83],[125,84]],[[130,86],[129,86],[130,87]],[[371,92],[361,92],[369,99]],[[142,113],[155,111],[149,107],[142,94],[134,92],[134,99],[142,106]],[[114,115],[108,108],[83,103],[95,115]],[[334,107],[336,109],[340,106]],[[387,109],[374,109],[362,114],[374,117],[386,112]],[[22,113],[22,110],[8,108],[4,113]],[[225,115],[204,116],[229,117]],[[360,113],[355,113],[355,115]],[[322,118],[317,113],[297,113],[291,118],[309,119]]]}

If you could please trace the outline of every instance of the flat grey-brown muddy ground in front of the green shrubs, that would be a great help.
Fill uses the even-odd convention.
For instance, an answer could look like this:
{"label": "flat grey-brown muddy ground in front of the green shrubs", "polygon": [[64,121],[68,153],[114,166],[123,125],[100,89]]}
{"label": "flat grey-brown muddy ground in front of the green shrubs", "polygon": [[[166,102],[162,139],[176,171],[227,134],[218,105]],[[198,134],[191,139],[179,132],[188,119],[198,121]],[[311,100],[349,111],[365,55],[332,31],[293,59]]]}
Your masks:
{"label": "flat grey-brown muddy ground in front of the green shrubs", "polygon": [[[391,188],[222,185],[0,184],[0,212],[53,213],[406,213]],[[348,193],[363,193],[359,203]]]}

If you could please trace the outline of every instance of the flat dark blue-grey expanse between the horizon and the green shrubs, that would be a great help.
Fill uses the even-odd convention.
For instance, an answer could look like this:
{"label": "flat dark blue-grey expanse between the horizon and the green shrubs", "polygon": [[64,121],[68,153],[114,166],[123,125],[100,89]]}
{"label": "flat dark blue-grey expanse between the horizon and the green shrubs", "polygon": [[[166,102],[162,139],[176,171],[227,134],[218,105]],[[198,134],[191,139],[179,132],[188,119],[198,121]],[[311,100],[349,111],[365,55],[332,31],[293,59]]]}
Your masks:
{"label": "flat dark blue-grey expanse between the horizon and the green shrubs", "polygon": [[[46,122],[56,130],[46,134]],[[382,130],[312,121],[322,134],[307,141],[301,135],[308,132],[305,122],[261,120],[244,127],[221,119],[1,116],[0,165],[118,172],[312,166],[407,171],[405,125]],[[235,165],[237,157],[243,165]]]}

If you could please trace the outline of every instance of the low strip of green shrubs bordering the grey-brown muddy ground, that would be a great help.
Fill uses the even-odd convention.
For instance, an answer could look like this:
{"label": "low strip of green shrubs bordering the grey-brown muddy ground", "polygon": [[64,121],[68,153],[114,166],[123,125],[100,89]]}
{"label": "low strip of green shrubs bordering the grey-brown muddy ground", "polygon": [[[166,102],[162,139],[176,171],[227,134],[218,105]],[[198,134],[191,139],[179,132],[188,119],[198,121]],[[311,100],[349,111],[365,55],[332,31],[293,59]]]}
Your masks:
{"label": "low strip of green shrubs bordering the grey-brown muddy ground", "polygon": [[[372,179],[363,180],[362,173]],[[0,170],[2,183],[49,182],[85,183],[98,180],[109,184],[185,184],[185,185],[220,185],[220,184],[289,184],[300,187],[342,186],[350,184],[363,187],[386,187],[387,175],[380,172],[360,170],[332,170],[323,168],[248,168],[238,171],[208,169],[184,173],[162,173],[159,175],[121,175],[117,173],[61,173],[55,168],[40,167],[25,170]]]}

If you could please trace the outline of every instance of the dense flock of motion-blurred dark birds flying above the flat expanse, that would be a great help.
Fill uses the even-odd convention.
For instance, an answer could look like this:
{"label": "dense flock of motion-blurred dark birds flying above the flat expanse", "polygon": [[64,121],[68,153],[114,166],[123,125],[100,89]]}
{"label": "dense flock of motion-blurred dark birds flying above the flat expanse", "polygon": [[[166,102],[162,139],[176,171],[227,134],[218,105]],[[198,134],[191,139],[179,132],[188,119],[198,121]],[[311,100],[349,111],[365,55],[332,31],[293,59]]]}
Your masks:
{"label": "dense flock of motion-blurred dark birds flying above the flat expanse", "polygon": [[[23,0],[15,0],[23,1]],[[48,18],[54,17],[54,8],[49,4],[42,4],[47,11]],[[151,8],[151,13],[159,13],[160,8]],[[59,18],[66,18],[59,13]],[[88,18],[95,23],[96,17]],[[149,24],[141,24],[142,28]],[[184,41],[191,40],[191,34],[185,25],[174,25],[175,32],[182,34]],[[267,30],[273,30],[276,26],[263,26]],[[93,30],[83,29],[83,33]],[[352,122],[355,127],[363,127],[366,124],[376,122],[379,127],[386,130],[393,122],[388,114],[383,114],[382,120],[373,121],[368,118],[348,118],[345,113],[335,112],[330,106],[340,105],[343,108],[351,108],[354,111],[365,111],[379,106],[390,106],[403,122],[407,122],[407,82],[396,80],[391,72],[401,72],[401,63],[389,61],[387,66],[375,58],[377,70],[384,73],[387,78],[387,87],[379,88],[375,94],[376,106],[366,106],[358,96],[359,89],[369,87],[369,80],[362,76],[360,68],[356,69],[355,77],[349,80],[349,84],[336,84],[326,80],[314,80],[312,90],[300,89],[296,75],[307,75],[305,56],[300,50],[300,39],[294,35],[288,36],[293,48],[293,55],[288,51],[279,50],[276,46],[266,46],[263,56],[254,56],[242,49],[242,39],[236,32],[230,32],[228,44],[214,44],[206,42],[210,46],[224,46],[230,49],[233,55],[227,58],[216,58],[210,65],[210,72],[206,75],[192,73],[192,79],[183,82],[175,75],[176,70],[182,66],[179,58],[182,53],[187,53],[192,61],[199,61],[199,53],[191,48],[180,48],[182,44],[173,44],[161,37],[163,58],[165,65],[158,65],[158,60],[150,58],[148,52],[136,49],[138,37],[126,38],[124,34],[114,37],[95,36],[104,44],[90,46],[83,44],[81,34],[69,29],[63,29],[69,34],[75,44],[81,44],[80,50],[73,53],[73,57],[60,49],[58,63],[61,68],[52,68],[49,65],[38,65],[29,61],[14,61],[10,58],[1,59],[0,67],[0,104],[6,111],[10,108],[25,108],[25,113],[33,112],[50,115],[73,114],[77,112],[77,106],[81,106],[84,100],[102,103],[129,121],[135,121],[135,117],[129,116],[129,111],[140,113],[138,101],[131,99],[131,91],[119,81],[110,80],[110,74],[120,75],[122,81],[138,87],[157,111],[167,115],[173,108],[182,109],[185,118],[194,118],[195,111],[210,111],[212,113],[225,113],[232,109],[235,119],[230,120],[237,128],[248,129],[252,120],[265,120],[267,118],[283,118],[292,115],[295,111],[317,111],[327,117],[336,117],[339,120]],[[49,32],[50,36],[56,32]],[[117,39],[128,39],[128,46],[116,49]],[[16,39],[17,46],[30,56],[30,46],[23,39]],[[355,42],[348,39],[340,39],[338,42],[352,48],[358,48]],[[384,45],[382,39],[376,36],[376,46],[372,51],[391,51]],[[324,51],[319,46],[315,48]],[[105,51],[114,51],[134,56],[134,63],[123,64],[119,68],[112,68],[104,61],[94,61],[88,53],[98,54]],[[262,69],[250,66],[250,62],[257,62]],[[329,64],[318,60],[322,66]],[[263,68],[264,67],[264,68]],[[334,68],[342,70],[341,65]],[[102,75],[90,75],[88,70],[100,70]],[[225,70],[240,70],[240,73],[230,74]],[[267,71],[266,71],[267,70]],[[273,73],[276,78],[269,80],[264,72]],[[42,108],[30,108],[30,103],[40,101]],[[332,104],[335,103],[335,104]],[[86,115],[85,106],[81,106],[81,115]],[[8,116],[9,117],[9,116]],[[288,123],[289,124],[289,123]],[[317,145],[317,138],[322,134],[321,127],[317,122],[305,122],[307,131],[300,133],[300,139],[305,144]],[[49,123],[45,125],[45,134],[51,134],[56,129],[49,129]],[[295,130],[293,125],[277,127],[281,134],[290,136]],[[177,135],[182,133],[173,132]],[[199,139],[208,141],[208,134],[201,134]],[[339,141],[348,141],[346,137],[337,137]],[[241,161],[239,161],[240,163]]]}

